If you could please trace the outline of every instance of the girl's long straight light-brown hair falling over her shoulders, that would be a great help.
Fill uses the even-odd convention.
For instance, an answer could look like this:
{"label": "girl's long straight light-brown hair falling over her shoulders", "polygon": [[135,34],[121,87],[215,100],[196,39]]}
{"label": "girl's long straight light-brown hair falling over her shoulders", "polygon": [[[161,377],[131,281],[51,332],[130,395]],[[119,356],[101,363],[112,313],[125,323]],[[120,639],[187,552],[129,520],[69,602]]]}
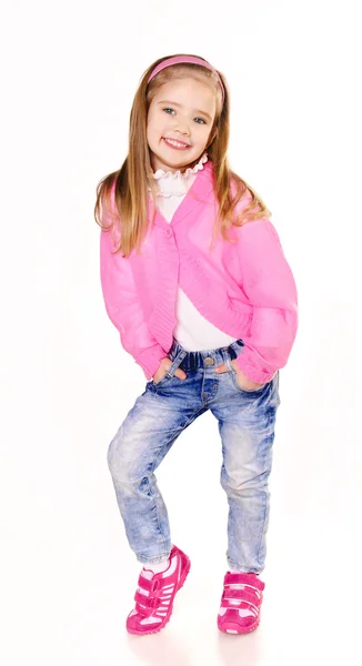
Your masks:
{"label": "girl's long straight light-brown hair falling over her shoulders", "polygon": [[[184,56],[184,53],[183,53]],[[214,239],[220,230],[223,239],[228,238],[228,230],[232,225],[240,226],[247,221],[270,215],[261,198],[239,175],[230,170],[228,163],[228,145],[230,133],[230,97],[227,81],[218,71],[224,87],[224,100],[220,84],[214,73],[199,64],[178,63],[160,71],[148,83],[153,69],[167,58],[165,56],[153,62],[144,72],[140,85],[134,95],[130,115],[129,152],[121,169],[104,176],[97,185],[97,201],[94,205],[94,218],[102,229],[110,229],[102,223],[102,209],[110,205],[110,194],[114,186],[114,204],[118,220],[121,222],[120,244],[118,251],[128,256],[132,250],[140,250],[148,229],[148,191],[151,188],[153,199],[153,221],[155,215],[155,185],[152,178],[152,165],[147,141],[147,119],[151,101],[155,91],[173,78],[194,75],[207,78],[213,83],[217,94],[217,113],[210,132],[209,145],[207,148],[209,160],[214,167],[214,191],[219,202],[219,214],[212,234]],[[202,59],[203,60],[203,59]],[[210,142],[211,141],[211,142]],[[200,158],[189,167],[198,163]],[[232,192],[231,192],[231,184]],[[249,195],[249,203],[240,214],[235,214],[235,208],[244,194]]]}

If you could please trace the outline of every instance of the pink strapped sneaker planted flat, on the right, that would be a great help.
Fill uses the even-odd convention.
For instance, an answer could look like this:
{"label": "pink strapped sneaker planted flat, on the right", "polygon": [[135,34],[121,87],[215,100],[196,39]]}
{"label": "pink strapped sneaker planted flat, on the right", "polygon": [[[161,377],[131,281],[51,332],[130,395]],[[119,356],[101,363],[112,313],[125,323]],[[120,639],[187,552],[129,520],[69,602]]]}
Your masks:
{"label": "pink strapped sneaker planted flat, on the right", "polygon": [[218,627],[228,634],[248,634],[260,622],[260,607],[265,583],[255,574],[232,574],[224,577]]}

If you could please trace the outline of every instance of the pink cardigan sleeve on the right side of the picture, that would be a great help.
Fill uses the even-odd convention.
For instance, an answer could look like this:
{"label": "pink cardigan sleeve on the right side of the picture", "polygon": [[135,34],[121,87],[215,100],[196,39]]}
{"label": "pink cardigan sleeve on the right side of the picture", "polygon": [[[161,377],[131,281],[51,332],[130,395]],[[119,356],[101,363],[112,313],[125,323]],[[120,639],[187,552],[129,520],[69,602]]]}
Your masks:
{"label": "pink cardigan sleeve on the right side of the picture", "polygon": [[279,235],[268,219],[241,228],[242,289],[253,309],[238,365],[259,384],[286,364],[298,329],[298,293]]}

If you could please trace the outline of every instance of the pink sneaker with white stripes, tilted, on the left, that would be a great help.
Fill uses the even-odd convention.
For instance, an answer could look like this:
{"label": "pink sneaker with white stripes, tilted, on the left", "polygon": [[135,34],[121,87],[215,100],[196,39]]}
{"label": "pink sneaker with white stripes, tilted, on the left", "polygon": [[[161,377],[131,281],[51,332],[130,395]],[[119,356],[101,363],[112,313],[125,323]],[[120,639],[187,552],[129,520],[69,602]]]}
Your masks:
{"label": "pink sneaker with white stripes, tilted, on the left", "polygon": [[[171,617],[175,593],[185,582],[190,565],[189,557],[172,546],[170,566],[164,572],[152,574],[143,568],[134,595],[135,607],[127,618],[125,626],[130,634],[141,636],[163,629]],[[145,577],[147,574],[149,577]]]}

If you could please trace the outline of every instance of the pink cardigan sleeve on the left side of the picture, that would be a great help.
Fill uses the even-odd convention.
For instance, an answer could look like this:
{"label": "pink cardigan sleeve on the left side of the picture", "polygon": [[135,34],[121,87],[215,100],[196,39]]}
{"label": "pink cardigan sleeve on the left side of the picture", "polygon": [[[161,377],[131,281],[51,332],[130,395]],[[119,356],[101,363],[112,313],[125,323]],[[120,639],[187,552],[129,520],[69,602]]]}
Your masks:
{"label": "pink cardigan sleeve on the left side of the picture", "polygon": [[[102,223],[107,214],[102,216]],[[134,280],[127,258],[114,252],[113,233],[101,231],[100,275],[107,313],[120,333],[125,352],[142,367],[150,380],[157,372],[161,359],[167,356],[161,345],[151,335],[139,303]]]}

